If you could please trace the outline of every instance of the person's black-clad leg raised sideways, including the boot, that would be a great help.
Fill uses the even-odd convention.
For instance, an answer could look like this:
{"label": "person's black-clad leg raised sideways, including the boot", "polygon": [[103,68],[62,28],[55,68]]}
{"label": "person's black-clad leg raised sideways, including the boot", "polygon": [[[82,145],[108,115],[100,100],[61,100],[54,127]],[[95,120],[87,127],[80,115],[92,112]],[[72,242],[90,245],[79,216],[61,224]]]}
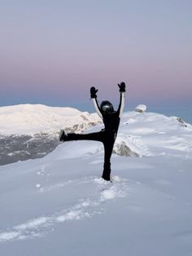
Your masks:
{"label": "person's black-clad leg raised sideways, including the boot", "polygon": [[63,134],[59,136],[60,141],[72,141],[72,140],[96,140],[103,142],[103,131],[94,132],[90,134],[67,134],[63,130]]}

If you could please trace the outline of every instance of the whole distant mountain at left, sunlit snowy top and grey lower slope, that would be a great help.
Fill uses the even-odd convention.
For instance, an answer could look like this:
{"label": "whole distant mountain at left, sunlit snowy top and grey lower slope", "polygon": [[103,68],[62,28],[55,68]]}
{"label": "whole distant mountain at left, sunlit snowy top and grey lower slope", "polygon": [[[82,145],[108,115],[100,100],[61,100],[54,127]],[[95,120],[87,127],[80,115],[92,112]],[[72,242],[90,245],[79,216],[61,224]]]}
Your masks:
{"label": "whole distant mountain at left, sunlit snowy top and grey lower slope", "polygon": [[24,104],[0,108],[0,165],[45,157],[58,145],[61,128],[82,132],[101,122],[75,108]]}

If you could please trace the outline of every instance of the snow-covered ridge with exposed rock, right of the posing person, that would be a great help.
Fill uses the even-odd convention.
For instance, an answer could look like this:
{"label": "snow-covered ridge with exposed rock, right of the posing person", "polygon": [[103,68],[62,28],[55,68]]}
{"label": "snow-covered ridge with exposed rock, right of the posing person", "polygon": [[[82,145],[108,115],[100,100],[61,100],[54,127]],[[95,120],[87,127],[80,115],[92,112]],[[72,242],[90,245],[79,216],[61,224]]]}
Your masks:
{"label": "snow-covered ridge with exposed rock, right of the posing person", "polygon": [[114,152],[120,156],[155,157],[192,149],[192,126],[178,117],[129,112],[121,118]]}

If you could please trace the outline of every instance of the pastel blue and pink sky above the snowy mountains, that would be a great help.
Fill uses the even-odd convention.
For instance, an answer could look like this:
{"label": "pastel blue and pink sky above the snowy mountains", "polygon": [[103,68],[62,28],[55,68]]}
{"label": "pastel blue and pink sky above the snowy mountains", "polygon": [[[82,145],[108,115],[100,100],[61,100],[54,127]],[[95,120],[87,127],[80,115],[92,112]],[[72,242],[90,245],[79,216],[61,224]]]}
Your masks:
{"label": "pastel blue and pink sky above the snowy mountains", "polygon": [[192,109],[192,1],[0,0],[0,106]]}

